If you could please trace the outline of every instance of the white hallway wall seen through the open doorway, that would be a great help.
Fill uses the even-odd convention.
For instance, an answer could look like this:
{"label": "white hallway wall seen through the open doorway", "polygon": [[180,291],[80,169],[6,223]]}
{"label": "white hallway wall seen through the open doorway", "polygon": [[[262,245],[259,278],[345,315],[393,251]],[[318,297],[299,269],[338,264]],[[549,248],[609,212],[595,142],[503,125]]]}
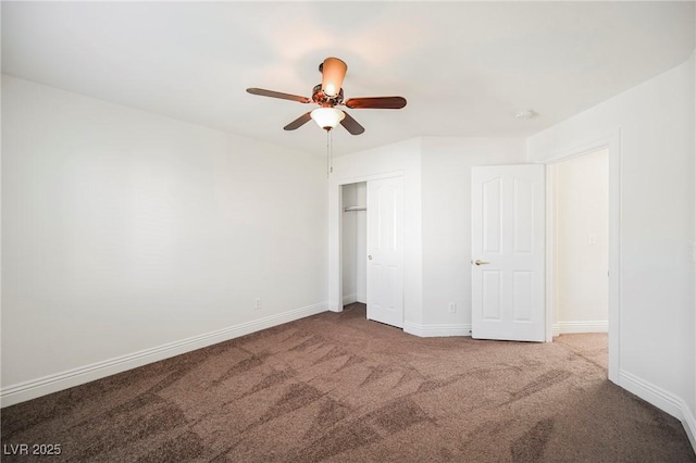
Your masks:
{"label": "white hallway wall seen through the open doorway", "polygon": [[609,321],[607,149],[554,164],[556,301],[560,333],[606,331]]}

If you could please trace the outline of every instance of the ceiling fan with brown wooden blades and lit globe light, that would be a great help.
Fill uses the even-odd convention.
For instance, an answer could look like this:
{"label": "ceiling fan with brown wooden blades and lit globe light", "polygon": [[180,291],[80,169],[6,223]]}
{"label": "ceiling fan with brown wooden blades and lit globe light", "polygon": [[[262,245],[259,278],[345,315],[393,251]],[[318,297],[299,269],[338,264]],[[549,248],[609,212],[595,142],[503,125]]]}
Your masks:
{"label": "ceiling fan with brown wooden blades and lit globe light", "polygon": [[285,127],[285,130],[295,130],[304,125],[309,120],[314,120],[316,124],[328,132],[340,123],[346,130],[352,135],[360,135],[365,132],[364,127],[350,116],[347,112],[336,107],[347,107],[352,110],[378,109],[378,110],[400,110],[406,107],[403,97],[365,97],[350,98],[344,102],[344,89],[341,88],[344,77],[348,66],[338,58],[327,58],[319,65],[322,73],[322,83],[312,89],[312,98],[299,97],[297,95],[283,93],[279,91],[264,90],[262,88],[247,88],[251,95],[261,97],[279,98],[282,100],[297,101],[300,103],[314,102],[321,108],[308,111]]}

